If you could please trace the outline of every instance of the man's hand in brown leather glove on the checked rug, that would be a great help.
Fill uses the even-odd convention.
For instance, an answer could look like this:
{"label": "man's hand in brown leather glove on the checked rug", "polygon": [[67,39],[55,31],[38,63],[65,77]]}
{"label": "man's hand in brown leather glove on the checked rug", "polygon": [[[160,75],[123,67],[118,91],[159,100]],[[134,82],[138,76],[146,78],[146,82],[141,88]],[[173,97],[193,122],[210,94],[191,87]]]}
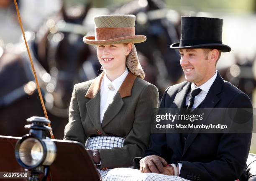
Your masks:
{"label": "man's hand in brown leather glove on the checked rug", "polygon": [[168,163],[164,160],[164,158],[161,158],[160,156],[146,156],[140,161],[140,171],[144,173],[162,173],[165,171],[164,167],[166,167],[167,164]]}

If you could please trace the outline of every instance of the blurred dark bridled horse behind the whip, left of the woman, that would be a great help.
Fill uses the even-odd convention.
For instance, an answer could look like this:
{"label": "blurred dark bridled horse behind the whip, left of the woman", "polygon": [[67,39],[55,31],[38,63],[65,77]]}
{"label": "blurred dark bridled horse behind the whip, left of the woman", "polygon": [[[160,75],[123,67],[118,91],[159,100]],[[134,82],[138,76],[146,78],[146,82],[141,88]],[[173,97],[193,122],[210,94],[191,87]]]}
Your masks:
{"label": "blurred dark bridled horse behind the whip, left of the woman", "polygon": [[[82,41],[88,31],[82,23],[89,9],[90,3],[87,3],[79,15],[70,16],[62,8],[43,23],[34,38],[33,32],[26,32],[30,34],[31,56],[57,139],[64,136],[74,84],[92,76],[88,76],[84,68],[91,50]],[[44,112],[27,53],[13,52],[4,51],[0,57],[0,135],[20,136],[27,133],[23,128],[26,119],[44,117]]]}

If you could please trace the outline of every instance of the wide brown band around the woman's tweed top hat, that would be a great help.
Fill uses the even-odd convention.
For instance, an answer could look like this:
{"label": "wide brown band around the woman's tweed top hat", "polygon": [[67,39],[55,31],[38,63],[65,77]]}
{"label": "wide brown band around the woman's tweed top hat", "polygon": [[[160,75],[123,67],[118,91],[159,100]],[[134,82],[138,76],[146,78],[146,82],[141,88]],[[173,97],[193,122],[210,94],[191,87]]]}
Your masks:
{"label": "wide brown band around the woman's tweed top hat", "polygon": [[96,41],[110,40],[125,36],[134,36],[135,27],[104,27],[95,28]]}

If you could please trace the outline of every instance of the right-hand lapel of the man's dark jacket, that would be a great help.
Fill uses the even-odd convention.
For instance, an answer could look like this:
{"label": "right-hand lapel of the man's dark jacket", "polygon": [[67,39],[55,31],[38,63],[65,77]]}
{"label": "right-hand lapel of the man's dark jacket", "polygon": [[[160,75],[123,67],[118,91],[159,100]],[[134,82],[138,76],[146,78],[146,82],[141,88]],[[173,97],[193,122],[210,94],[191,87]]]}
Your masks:
{"label": "right-hand lapel of the man's dark jacket", "polygon": [[[207,117],[210,115],[210,112],[212,112],[212,109],[220,101],[220,98],[217,95],[222,91],[223,83],[224,83],[224,81],[223,81],[222,77],[220,76],[220,73],[218,72],[215,81],[213,82],[209,92],[207,93],[207,95],[200,107],[200,108],[204,108],[203,122],[205,122],[207,120]],[[195,140],[197,134],[198,134],[198,130],[195,130],[193,132],[193,134],[188,135],[187,141],[184,145],[183,155],[185,154],[185,152],[187,151],[189,146],[192,144],[192,142]]]}

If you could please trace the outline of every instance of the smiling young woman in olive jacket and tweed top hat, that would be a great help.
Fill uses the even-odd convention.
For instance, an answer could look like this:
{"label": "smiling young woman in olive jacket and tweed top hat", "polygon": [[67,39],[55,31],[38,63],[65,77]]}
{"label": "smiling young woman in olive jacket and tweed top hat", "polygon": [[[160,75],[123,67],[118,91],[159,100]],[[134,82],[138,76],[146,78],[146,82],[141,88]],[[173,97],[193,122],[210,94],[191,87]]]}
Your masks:
{"label": "smiling young woman in olive jacket and tweed top hat", "polygon": [[84,42],[97,46],[103,72],[74,86],[64,140],[85,144],[104,176],[108,168],[132,166],[134,157],[143,156],[158,91],[143,80],[133,43],[146,36],[135,35],[135,16],[101,15],[94,21],[95,36]]}

